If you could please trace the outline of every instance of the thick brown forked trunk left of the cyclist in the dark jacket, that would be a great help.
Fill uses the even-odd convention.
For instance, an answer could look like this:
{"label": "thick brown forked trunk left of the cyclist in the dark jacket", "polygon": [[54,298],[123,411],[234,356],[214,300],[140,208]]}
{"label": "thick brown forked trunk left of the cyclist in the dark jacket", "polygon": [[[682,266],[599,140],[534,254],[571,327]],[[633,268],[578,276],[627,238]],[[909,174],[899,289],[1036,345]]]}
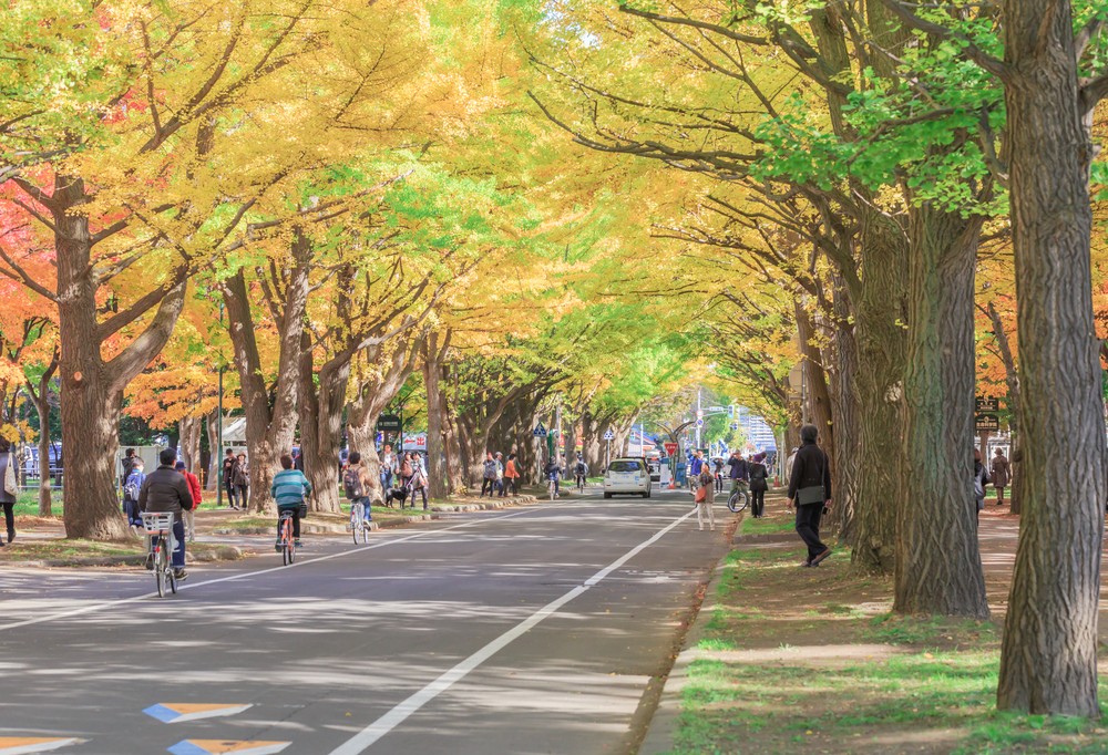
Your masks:
{"label": "thick brown forked trunk left of the cyclist in the dark jacket", "polygon": [[57,228],[65,535],[122,540],[129,530],[116,495],[115,454],[123,389],[168,340],[185,283],[171,282],[143,333],[105,362],[101,345],[107,331],[98,322],[100,281],[92,262],[94,239],[82,211],[86,201],[81,179],[54,177],[48,208]]}

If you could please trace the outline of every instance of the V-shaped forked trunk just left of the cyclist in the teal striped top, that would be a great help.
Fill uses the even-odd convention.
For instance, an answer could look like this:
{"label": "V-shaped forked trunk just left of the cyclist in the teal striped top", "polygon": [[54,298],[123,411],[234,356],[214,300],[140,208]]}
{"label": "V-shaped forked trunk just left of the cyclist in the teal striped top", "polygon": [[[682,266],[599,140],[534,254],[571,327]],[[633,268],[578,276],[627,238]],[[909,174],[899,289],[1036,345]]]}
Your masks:
{"label": "V-shaped forked trunk just left of the cyclist in the teal striped top", "polygon": [[273,509],[270,487],[281,454],[293,448],[296,437],[300,387],[300,352],[305,312],[308,302],[311,245],[297,234],[293,241],[294,267],[287,275],[281,302],[279,355],[275,401],[269,404],[269,386],[261,372],[261,358],[255,338],[255,321],[242,270],[224,283],[223,298],[230,322],[243,413],[246,417],[246,449],[250,469],[250,506],[257,511]]}

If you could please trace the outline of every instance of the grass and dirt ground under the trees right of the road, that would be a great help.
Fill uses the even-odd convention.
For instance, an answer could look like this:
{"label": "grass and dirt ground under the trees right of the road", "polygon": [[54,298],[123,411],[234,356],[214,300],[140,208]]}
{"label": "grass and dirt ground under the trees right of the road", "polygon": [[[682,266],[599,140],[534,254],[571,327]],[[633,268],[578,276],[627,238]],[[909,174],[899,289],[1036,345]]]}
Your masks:
{"label": "grass and dirt ground under the trees right of the road", "polygon": [[[666,683],[640,753],[1108,752],[1108,726],[995,711],[999,634],[1018,518],[989,506],[982,560],[993,613],[890,614],[892,580],[839,549],[801,569],[780,495],[743,516]],[[1101,601],[1101,701],[1108,604]]]}

